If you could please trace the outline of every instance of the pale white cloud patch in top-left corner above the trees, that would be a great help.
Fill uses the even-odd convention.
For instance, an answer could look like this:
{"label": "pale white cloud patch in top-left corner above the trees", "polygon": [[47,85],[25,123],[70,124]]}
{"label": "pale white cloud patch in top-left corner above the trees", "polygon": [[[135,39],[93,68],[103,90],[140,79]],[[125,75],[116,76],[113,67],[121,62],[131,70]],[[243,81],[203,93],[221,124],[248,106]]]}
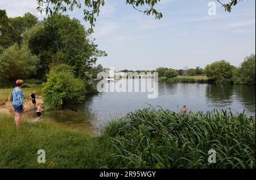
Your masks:
{"label": "pale white cloud patch in top-left corner above the trees", "polygon": [[36,0],[1,0],[0,9],[5,9],[9,17],[23,16],[26,12],[31,12],[38,16]]}

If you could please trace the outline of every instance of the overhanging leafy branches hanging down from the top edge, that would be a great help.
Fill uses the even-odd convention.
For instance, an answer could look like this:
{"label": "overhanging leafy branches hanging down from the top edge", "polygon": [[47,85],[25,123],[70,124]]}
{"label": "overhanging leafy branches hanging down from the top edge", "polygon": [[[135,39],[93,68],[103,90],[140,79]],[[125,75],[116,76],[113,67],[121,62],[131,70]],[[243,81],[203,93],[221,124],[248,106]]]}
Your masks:
{"label": "overhanging leafy branches hanging down from the top edge", "polygon": [[[65,12],[67,10],[73,11],[74,7],[81,9],[84,8],[84,20],[89,22],[92,27],[94,27],[94,22],[96,22],[96,16],[100,14],[100,7],[105,5],[105,0],[84,0],[84,3],[81,3],[80,0],[37,0],[38,1],[38,10],[40,12],[44,11],[43,7],[46,6],[46,14],[48,12],[52,14],[57,14],[57,12]],[[161,0],[126,0],[126,4],[133,6],[135,10],[143,12],[146,15],[155,15],[156,19],[161,19],[163,17],[162,12],[158,12],[155,9],[155,5]],[[217,2],[221,3],[225,10],[230,12],[232,6],[236,6],[241,0],[230,0],[229,3],[222,3],[220,0]],[[51,5],[51,6],[50,6]],[[147,6],[144,10],[140,10],[140,7]]]}

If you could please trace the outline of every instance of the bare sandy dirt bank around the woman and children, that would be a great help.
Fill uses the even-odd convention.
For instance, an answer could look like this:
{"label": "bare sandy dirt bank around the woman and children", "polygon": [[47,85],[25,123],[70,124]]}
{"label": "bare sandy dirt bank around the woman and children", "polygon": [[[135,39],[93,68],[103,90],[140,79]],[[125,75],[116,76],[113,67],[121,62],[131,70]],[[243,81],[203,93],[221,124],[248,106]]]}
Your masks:
{"label": "bare sandy dirt bank around the woman and children", "polygon": [[[43,103],[42,96],[36,96],[36,104],[39,104],[39,103]],[[26,113],[26,111],[29,111],[34,107],[30,99],[24,99],[23,104],[25,108],[24,113]],[[8,115],[14,114],[13,102],[6,101],[4,104],[1,104],[0,113],[8,114]]]}

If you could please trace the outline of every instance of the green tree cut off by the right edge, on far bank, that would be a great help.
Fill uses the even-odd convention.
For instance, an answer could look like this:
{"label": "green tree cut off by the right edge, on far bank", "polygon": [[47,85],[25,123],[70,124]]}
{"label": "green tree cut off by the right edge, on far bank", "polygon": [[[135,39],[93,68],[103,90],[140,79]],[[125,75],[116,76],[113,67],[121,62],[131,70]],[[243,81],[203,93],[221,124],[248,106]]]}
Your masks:
{"label": "green tree cut off by the right edge, on far bank", "polygon": [[255,55],[245,58],[234,73],[234,82],[243,85],[255,85]]}

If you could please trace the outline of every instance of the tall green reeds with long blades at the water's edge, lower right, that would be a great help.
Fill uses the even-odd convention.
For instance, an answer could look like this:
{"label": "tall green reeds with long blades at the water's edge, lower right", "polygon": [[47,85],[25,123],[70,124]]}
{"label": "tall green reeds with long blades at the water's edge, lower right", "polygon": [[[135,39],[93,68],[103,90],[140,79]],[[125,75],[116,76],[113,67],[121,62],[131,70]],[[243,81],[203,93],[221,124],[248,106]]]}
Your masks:
{"label": "tall green reeds with long blades at the water's edge, lower right", "polygon": [[[104,129],[111,168],[255,168],[255,116],[213,112],[131,112]],[[217,163],[208,163],[216,150]]]}

